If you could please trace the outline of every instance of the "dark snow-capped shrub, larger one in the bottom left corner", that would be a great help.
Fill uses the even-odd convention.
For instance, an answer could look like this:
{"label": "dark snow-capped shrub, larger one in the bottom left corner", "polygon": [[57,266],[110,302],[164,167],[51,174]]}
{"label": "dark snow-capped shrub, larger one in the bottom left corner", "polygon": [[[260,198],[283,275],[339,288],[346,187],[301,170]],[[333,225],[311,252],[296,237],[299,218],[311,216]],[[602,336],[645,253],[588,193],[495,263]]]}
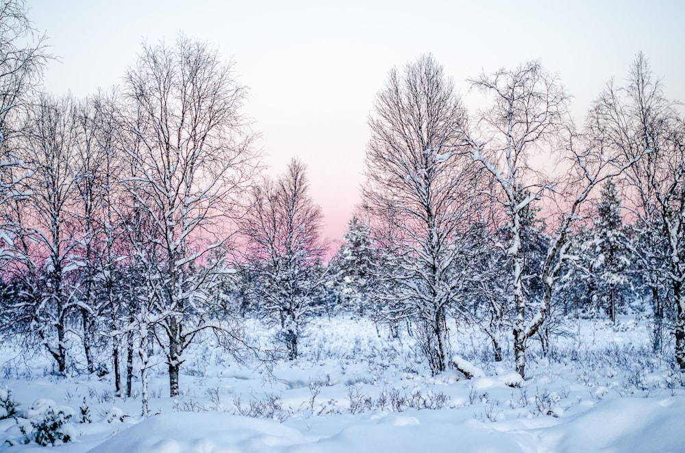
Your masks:
{"label": "dark snow-capped shrub, larger one in the bottom left corner", "polygon": [[25,442],[38,445],[62,445],[72,441],[75,430],[69,420],[75,412],[69,406],[58,406],[53,400],[36,400],[18,413],[16,423],[25,437]]}

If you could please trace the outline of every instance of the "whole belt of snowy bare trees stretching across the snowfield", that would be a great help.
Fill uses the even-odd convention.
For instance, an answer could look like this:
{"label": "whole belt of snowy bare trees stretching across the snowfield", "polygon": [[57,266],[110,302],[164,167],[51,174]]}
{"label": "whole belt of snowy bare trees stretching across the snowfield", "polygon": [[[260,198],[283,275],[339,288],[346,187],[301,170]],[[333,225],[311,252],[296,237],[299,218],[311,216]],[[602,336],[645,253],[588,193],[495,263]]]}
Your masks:
{"label": "whole belt of snowy bare trees stretching across the snowfield", "polygon": [[[584,118],[538,61],[458,83],[430,53],[390,69],[369,113],[358,208],[339,240],[323,237],[306,162],[265,175],[247,86],[211,43],[180,34],[144,44],[119,86],[55,96],[40,86],[53,58],[45,36],[22,1],[1,7],[6,381],[33,379],[36,370],[20,370],[38,361],[44,378],[93,380],[111,401],[135,400],[141,419],[167,396],[201,412],[187,400],[199,354],[268,380],[325,361],[312,348],[319,341],[325,355],[321,335],[342,325],[413,354],[411,372],[431,383],[510,370],[511,388],[569,360],[569,341],[588,326],[606,341],[634,328],[637,354],[653,362],[634,370],[636,350],[614,351],[627,370],[615,373],[620,385],[647,391],[635,376],[649,367],[671,396],[685,383],[685,116],[643,53]],[[464,105],[466,89],[487,104]],[[401,367],[397,357],[383,366]],[[301,387],[310,415],[325,409],[323,381]],[[369,390],[347,391],[352,415],[384,407],[382,392],[373,402]],[[501,418],[473,392],[471,404],[486,400],[484,420]],[[0,418],[18,417],[10,393],[0,397]],[[386,397],[397,411],[443,409],[448,398]],[[239,415],[288,413],[273,399],[242,413],[235,398]],[[558,396],[536,398],[536,415],[562,415]],[[25,426],[10,445],[69,441]]]}

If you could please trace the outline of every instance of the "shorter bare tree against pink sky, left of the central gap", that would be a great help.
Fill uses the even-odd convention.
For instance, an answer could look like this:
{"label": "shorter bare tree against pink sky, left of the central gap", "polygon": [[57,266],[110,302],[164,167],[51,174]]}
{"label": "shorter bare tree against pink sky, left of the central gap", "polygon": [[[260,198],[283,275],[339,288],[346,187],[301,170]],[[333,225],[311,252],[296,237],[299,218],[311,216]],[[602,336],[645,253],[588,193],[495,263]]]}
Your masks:
{"label": "shorter bare tree against pink sky, left of the central gap", "polygon": [[276,315],[290,360],[297,358],[301,331],[325,283],[323,217],[308,192],[306,168],[292,159],[281,177],[253,187],[252,207],[242,221],[253,291]]}

